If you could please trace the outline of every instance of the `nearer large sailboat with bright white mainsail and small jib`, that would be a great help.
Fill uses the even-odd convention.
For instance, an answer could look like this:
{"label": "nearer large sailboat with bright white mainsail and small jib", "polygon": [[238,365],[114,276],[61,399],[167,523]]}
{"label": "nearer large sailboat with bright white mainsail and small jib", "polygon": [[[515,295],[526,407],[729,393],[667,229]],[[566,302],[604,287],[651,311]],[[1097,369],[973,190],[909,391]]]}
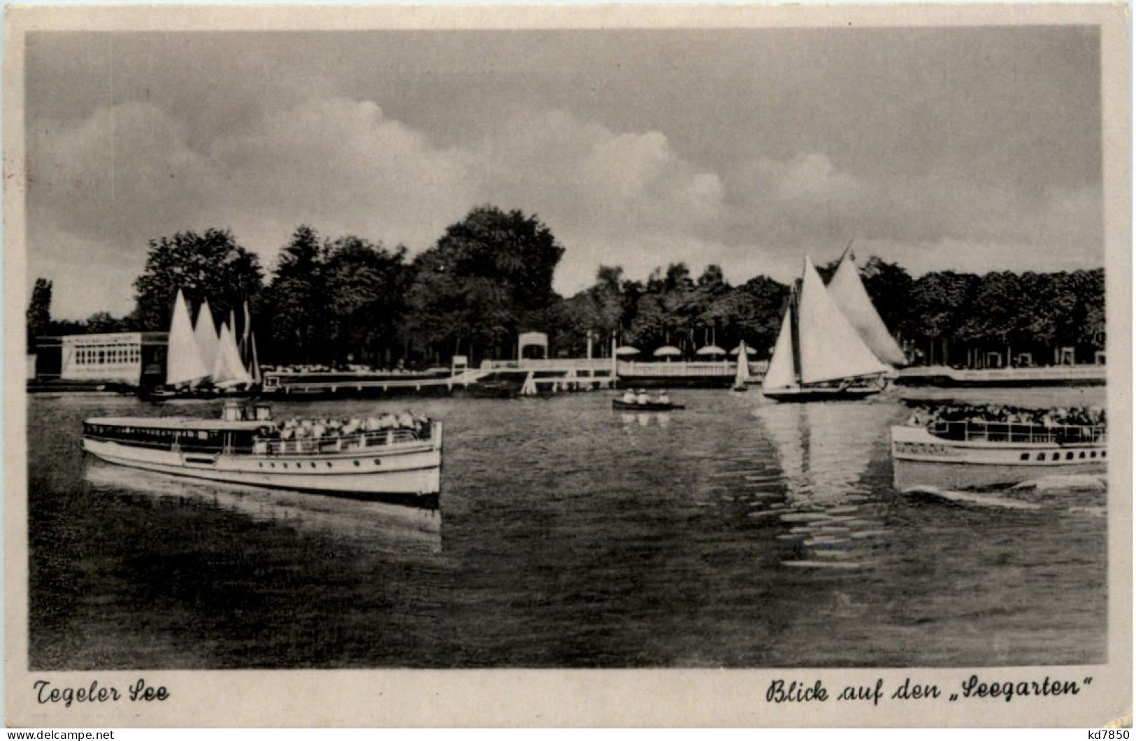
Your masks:
{"label": "nearer large sailboat with bright white mainsail and small jib", "polygon": [[879,382],[889,370],[849,323],[805,257],[761,392],[777,401],[862,399],[879,393]]}

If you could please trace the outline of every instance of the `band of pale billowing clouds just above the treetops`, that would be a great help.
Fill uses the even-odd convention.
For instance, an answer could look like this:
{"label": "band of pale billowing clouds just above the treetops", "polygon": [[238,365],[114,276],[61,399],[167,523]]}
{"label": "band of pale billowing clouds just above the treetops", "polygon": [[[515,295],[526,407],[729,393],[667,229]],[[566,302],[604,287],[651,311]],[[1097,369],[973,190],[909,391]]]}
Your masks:
{"label": "band of pale billowing clouds just above the treetops", "polygon": [[[618,132],[556,109],[515,113],[460,145],[329,94],[234,126],[197,142],[158,106],[134,102],[32,132],[28,278],[51,273],[57,306],[74,316],[122,311],[147,241],[178,230],[232,228],[270,268],[301,223],[418,250],[483,202],[552,228],[567,247],[565,293],[601,263],[634,277],[684,260],[695,273],[718,263],[735,282],[787,280],[805,252],[826,260],[850,239],[914,273],[1018,267],[1030,253],[1034,269],[1080,267],[1101,249],[1099,190],[1030,194],[1029,184],[944,170],[872,181],[820,151],[757,156],[719,174],[660,131]],[[90,255],[101,267],[84,282]]]}

